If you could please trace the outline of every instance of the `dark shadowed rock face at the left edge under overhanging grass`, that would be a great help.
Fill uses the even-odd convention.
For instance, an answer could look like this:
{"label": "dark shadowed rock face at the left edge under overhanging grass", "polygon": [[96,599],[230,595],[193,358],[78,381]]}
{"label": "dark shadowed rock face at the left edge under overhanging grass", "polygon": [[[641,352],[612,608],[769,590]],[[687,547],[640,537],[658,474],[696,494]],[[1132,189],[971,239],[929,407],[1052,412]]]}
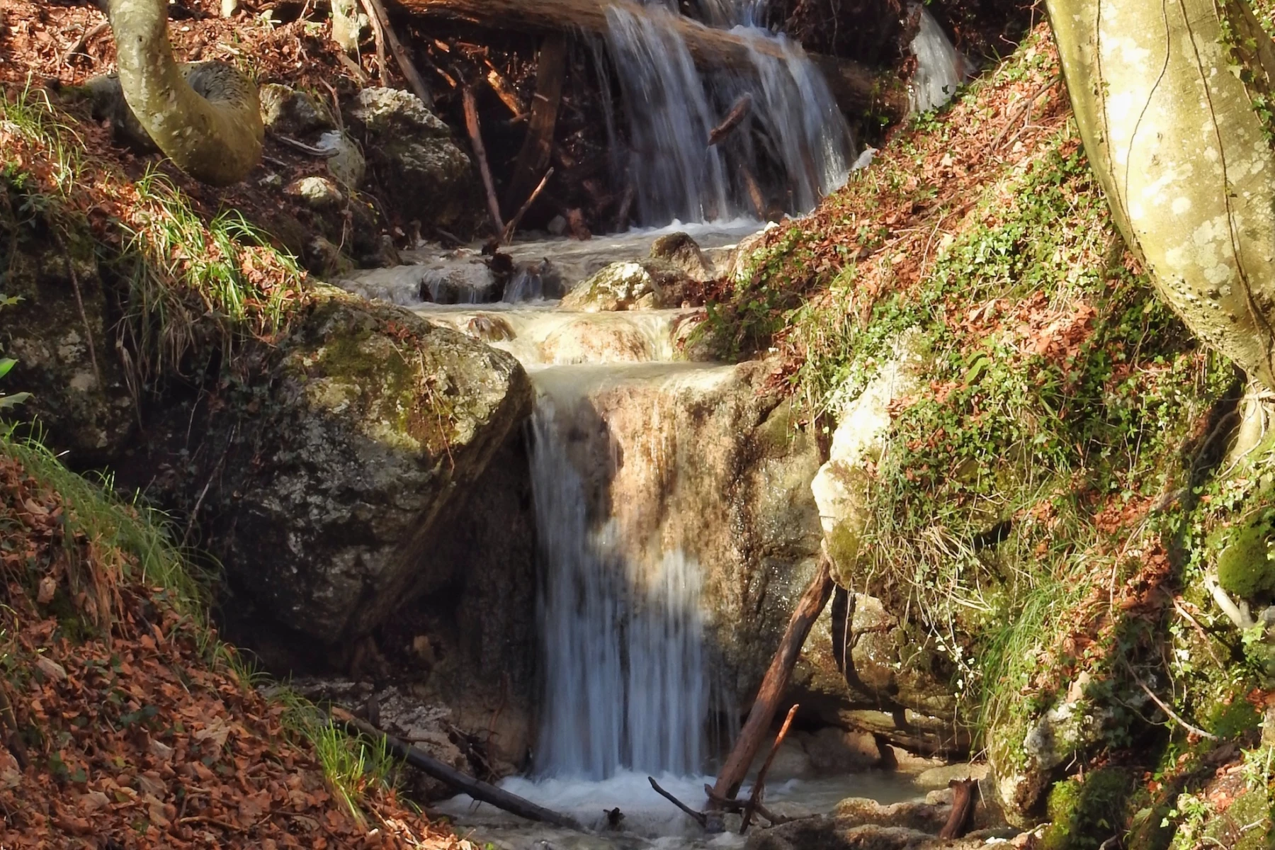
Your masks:
{"label": "dark shadowed rock face at the left edge under overhanging grass", "polygon": [[13,415],[38,418],[46,443],[70,452],[73,465],[108,460],[136,413],[93,249],[64,246],[41,223],[17,226],[3,192],[0,243],[18,250],[6,252],[0,294],[22,298],[0,312],[0,357],[18,361],[4,389],[32,394]]}

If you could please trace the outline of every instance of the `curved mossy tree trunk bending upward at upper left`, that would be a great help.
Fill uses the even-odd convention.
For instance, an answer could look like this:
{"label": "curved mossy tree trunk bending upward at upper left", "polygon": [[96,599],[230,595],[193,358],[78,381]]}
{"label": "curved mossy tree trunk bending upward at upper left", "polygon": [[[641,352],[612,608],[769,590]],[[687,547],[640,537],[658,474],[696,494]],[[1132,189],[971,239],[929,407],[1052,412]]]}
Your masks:
{"label": "curved mossy tree trunk bending upward at upper left", "polygon": [[111,0],[124,99],[156,145],[195,180],[236,184],[261,159],[256,85],[223,62],[177,65],[164,0]]}

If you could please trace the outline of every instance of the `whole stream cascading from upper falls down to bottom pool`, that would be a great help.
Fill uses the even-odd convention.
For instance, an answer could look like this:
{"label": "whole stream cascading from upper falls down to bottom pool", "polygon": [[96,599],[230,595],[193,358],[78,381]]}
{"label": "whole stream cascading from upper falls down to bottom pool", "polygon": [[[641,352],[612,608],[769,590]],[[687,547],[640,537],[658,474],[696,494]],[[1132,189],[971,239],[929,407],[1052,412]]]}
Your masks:
{"label": "whole stream cascading from upper falls down to bottom pool", "polygon": [[[724,275],[738,242],[762,227],[760,217],[775,214],[762,209],[759,180],[779,180],[785,210],[802,213],[850,173],[854,140],[822,78],[798,45],[754,25],[764,0],[701,6],[711,25],[766,43],[752,51],[747,74],[696,70],[668,25],[680,14],[676,3],[652,0],[643,14],[613,10],[606,45],[597,46],[621,70],[622,117],[638,152],[613,167],[636,184],[639,220],[672,224],[583,242],[519,242],[501,250],[513,261],[509,277],[493,273],[477,247],[422,246],[403,252],[407,265],[342,282],[505,349],[536,387],[528,442],[542,565],[534,600],[541,725],[530,775],[502,786],[599,833],[528,825],[468,796],[437,807],[462,835],[504,850],[745,841],[734,832],[704,836],[646,781],[657,776],[703,807],[704,784],[737,733],[733,689],[717,679],[696,545],[700,517],[720,511],[723,500],[696,488],[711,446],[695,445],[678,423],[694,415],[687,410],[717,404],[706,399],[724,395],[731,381],[738,385],[740,367],[680,356],[680,334],[696,310],[590,312],[560,301],[609,264],[645,259],[659,236],[674,232],[692,236]],[[964,71],[928,13],[917,14],[914,108],[926,110],[946,101]],[[745,94],[751,130],[705,148],[717,117]],[[617,120],[607,116],[608,131]],[[926,790],[900,772],[811,779],[776,763],[765,802],[797,816],[831,812],[847,796],[894,803]],[[613,807],[625,816],[621,832],[606,830],[604,809]]]}

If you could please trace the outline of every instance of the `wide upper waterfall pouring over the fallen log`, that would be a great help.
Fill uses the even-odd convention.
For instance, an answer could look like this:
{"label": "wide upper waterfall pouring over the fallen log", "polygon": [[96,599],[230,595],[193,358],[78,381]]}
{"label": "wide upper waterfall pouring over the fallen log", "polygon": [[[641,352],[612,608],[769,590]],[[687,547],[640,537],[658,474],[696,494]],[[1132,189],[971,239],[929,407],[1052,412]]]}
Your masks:
{"label": "wide upper waterfall pouring over the fallen log", "polygon": [[[765,0],[700,0],[700,14],[733,28],[747,68],[696,69],[677,4],[607,9],[607,46],[623,96],[632,153],[627,180],[644,224],[808,212],[839,189],[854,141],[827,83],[801,46],[756,24]],[[694,24],[703,25],[703,24]],[[743,124],[708,136],[742,97]]]}

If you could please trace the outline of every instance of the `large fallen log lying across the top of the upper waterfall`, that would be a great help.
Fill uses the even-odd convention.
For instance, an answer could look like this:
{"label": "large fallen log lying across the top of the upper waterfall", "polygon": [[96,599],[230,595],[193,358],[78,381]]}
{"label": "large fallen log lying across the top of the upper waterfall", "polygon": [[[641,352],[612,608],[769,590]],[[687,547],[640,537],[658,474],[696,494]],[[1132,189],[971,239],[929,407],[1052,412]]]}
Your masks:
{"label": "large fallen log lying across the top of the upper waterfall", "polygon": [[[524,32],[583,32],[604,36],[607,8],[645,14],[632,0],[391,0],[407,13],[428,18],[463,20],[490,29]],[[783,47],[769,40],[713,29],[690,18],[678,17],[674,25],[686,41],[692,59],[711,68],[750,69],[759,51],[778,59]],[[811,55],[843,112],[859,115],[873,111],[890,119],[908,113],[908,93],[894,74],[877,74],[853,60]]]}

